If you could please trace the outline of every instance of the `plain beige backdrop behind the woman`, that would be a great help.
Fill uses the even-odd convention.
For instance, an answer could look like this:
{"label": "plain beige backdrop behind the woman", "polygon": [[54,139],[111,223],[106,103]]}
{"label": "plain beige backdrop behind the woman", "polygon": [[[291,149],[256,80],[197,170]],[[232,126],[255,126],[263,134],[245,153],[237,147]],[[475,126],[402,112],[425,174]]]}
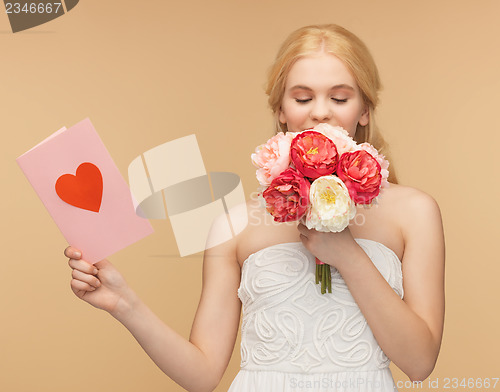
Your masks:
{"label": "plain beige backdrop behind the woman", "polygon": [[[439,389],[422,389],[500,377],[499,1],[82,0],[17,34],[0,10],[0,391],[182,390],[118,322],[73,296],[64,238],[15,158],[88,116],[126,177],[140,153],[196,133],[207,169],[238,173],[249,196],[250,154],[272,133],[266,70],[288,33],[326,22],[372,51],[400,182],[441,206],[445,334],[430,377]],[[111,261],[188,337],[202,258],[178,257],[170,223],[153,225]],[[217,391],[238,367],[239,344]],[[392,369],[400,391],[415,389]]]}

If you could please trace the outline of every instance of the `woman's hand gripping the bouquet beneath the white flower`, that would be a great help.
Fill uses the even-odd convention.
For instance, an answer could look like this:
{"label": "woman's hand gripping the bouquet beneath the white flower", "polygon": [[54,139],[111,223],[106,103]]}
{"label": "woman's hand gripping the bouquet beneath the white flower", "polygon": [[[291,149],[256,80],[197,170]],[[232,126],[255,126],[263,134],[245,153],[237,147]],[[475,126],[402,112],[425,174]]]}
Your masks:
{"label": "woman's hand gripping the bouquet beneath the white flower", "polygon": [[349,226],[337,233],[308,229],[302,223],[299,223],[297,229],[300,232],[300,240],[307,250],[321,262],[337,269],[348,262],[356,254],[355,252],[363,251],[354,240]]}

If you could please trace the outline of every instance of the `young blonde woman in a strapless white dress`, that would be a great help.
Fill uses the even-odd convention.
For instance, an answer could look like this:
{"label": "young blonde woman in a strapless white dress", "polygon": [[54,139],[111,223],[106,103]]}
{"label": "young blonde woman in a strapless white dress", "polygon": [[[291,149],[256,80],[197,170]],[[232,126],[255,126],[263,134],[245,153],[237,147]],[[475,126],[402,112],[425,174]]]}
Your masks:
{"label": "young blonde woman in a strapless white dress", "polygon": [[[321,25],[284,42],[267,93],[278,131],[327,123],[384,153],[374,118],[379,89],[365,45],[339,26]],[[119,320],[189,391],[219,383],[242,304],[241,370],[230,391],[393,391],[390,361],[413,381],[434,368],[444,320],[444,238],[434,199],[398,185],[394,174],[389,181],[377,203],[359,207],[338,233],[275,223],[257,200],[239,208],[245,230],[205,251],[189,341],[159,320],[109,261],[92,266],[69,247],[71,287]],[[334,267],[332,293],[322,295],[314,282],[315,257]]]}

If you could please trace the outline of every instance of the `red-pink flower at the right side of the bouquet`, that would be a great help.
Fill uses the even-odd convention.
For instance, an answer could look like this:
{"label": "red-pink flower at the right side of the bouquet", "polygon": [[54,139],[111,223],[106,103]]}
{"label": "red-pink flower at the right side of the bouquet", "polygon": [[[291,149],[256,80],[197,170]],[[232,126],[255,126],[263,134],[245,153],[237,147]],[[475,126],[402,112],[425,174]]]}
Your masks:
{"label": "red-pink flower at the right side of the bouquet", "polygon": [[369,204],[378,196],[382,182],[380,172],[380,164],[365,150],[342,154],[337,166],[337,176],[344,181],[356,204]]}

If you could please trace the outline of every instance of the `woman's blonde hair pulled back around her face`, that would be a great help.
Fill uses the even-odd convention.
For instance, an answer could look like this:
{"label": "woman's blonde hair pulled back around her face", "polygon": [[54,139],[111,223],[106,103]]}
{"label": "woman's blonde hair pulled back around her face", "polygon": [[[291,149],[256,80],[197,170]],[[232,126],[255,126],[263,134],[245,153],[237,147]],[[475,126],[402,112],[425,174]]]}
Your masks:
{"label": "woman's blonde hair pulled back around her face", "polygon": [[[279,112],[285,94],[286,78],[291,67],[298,59],[320,50],[342,60],[354,77],[363,102],[369,108],[368,124],[365,126],[358,124],[354,140],[358,143],[372,144],[390,161],[389,146],[375,122],[375,109],[382,89],[375,61],[366,45],[356,35],[335,24],[302,27],[291,33],[281,45],[276,60],[269,70],[266,87],[269,106],[275,118],[276,132],[287,131],[286,124],[279,122]],[[397,184],[392,165],[389,173],[389,181]]]}

